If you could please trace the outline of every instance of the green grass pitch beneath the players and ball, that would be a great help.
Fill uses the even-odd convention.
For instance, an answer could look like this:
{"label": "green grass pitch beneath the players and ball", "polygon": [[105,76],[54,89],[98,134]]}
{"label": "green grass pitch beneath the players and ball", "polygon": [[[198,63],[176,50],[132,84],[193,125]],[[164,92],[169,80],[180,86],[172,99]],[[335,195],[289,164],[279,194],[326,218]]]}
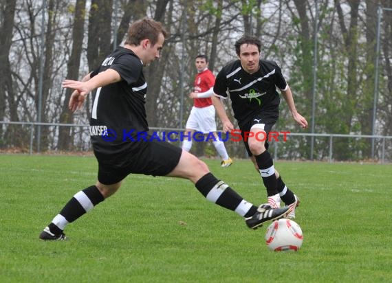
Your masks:
{"label": "green grass pitch beneath the players and ball", "polygon": [[[248,201],[265,202],[250,161],[214,174]],[[38,236],[96,181],[96,159],[0,155],[0,282],[391,282],[392,166],[277,161],[301,198],[296,253],[265,246],[234,212],[183,179],[129,176],[117,194],[67,226],[69,240]]]}

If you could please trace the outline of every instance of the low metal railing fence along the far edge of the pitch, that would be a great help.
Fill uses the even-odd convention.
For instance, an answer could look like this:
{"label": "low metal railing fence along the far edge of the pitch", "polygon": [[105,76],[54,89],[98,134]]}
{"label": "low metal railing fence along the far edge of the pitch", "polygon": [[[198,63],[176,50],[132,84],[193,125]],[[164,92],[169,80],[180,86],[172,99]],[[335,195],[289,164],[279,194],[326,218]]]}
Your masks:
{"label": "low metal railing fence along the far edge of the pitch", "polygon": [[[10,131],[10,126],[13,131]],[[58,150],[58,133],[61,127],[72,129],[72,148],[74,151],[89,151],[91,144],[89,142],[89,125],[87,124],[61,124],[61,123],[37,123],[37,122],[5,122],[0,121],[0,150],[6,152],[8,148],[23,148],[21,152],[32,155],[34,152],[46,152],[47,150]],[[45,129],[45,131],[43,131]],[[157,135],[168,135],[168,133],[179,133],[184,131],[183,128],[160,128],[150,127]],[[41,133],[43,131],[44,133]],[[38,144],[41,138],[38,135],[45,136],[46,147]],[[276,132],[278,133],[278,132]],[[285,132],[281,132],[285,133]],[[232,137],[227,138],[225,134],[226,148],[230,155],[234,157],[247,157],[243,147],[243,142],[235,140]],[[314,158],[316,161],[371,161],[378,163],[392,162],[392,136],[382,135],[342,135],[329,133],[285,133],[279,138],[272,138],[270,141],[270,152],[274,159],[287,160],[309,160],[310,158],[310,139],[314,138]],[[285,138],[285,140],[284,140]],[[279,139],[279,140],[278,140]],[[18,141],[18,142],[16,142]],[[179,139],[169,140],[177,146],[181,146]],[[369,154],[370,144],[375,144],[375,157]],[[211,149],[211,143],[206,143],[206,149],[211,154],[215,150]],[[34,150],[35,149],[35,150]]]}

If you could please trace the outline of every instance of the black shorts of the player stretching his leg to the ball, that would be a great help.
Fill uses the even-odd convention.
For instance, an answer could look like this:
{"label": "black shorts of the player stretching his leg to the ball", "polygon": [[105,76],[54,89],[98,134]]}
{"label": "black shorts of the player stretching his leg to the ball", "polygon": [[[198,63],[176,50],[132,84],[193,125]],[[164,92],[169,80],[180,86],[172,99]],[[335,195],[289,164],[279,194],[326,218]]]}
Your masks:
{"label": "black shorts of the player stretching his leg to the ball", "polygon": [[98,181],[105,185],[118,183],[129,174],[166,176],[179,163],[182,148],[166,141],[138,141],[137,148],[116,157],[98,154]]}

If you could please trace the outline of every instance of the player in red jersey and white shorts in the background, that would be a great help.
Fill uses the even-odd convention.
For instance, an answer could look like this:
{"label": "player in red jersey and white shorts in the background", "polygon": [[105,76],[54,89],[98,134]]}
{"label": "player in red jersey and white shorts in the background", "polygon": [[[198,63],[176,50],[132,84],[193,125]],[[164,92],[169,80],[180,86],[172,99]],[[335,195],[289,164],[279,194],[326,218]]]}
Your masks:
{"label": "player in red jersey and white shorts in the background", "polygon": [[[215,107],[211,97],[214,94],[213,88],[215,76],[208,69],[208,58],[204,54],[197,55],[195,58],[197,75],[193,84],[193,91],[189,94],[193,98],[193,107],[186,121],[185,133],[193,137],[195,131],[208,136],[212,134],[213,145],[221,157],[221,167],[232,165],[232,159],[228,156],[224,142],[217,134],[217,123],[215,122]],[[182,149],[189,151],[192,148],[192,139],[186,138],[182,142]]]}

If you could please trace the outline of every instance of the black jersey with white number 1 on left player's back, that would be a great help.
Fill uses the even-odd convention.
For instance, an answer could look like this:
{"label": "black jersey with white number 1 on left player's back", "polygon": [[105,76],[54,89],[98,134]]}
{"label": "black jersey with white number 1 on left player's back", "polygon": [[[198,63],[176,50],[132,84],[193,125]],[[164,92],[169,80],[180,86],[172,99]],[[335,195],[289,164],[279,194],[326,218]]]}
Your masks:
{"label": "black jersey with white number 1 on left player's back", "polygon": [[147,84],[142,61],[130,49],[118,47],[91,77],[109,68],[116,70],[122,80],[96,90],[90,119],[94,152],[104,158],[135,149],[138,143],[131,137],[140,131],[149,131],[144,107]]}

